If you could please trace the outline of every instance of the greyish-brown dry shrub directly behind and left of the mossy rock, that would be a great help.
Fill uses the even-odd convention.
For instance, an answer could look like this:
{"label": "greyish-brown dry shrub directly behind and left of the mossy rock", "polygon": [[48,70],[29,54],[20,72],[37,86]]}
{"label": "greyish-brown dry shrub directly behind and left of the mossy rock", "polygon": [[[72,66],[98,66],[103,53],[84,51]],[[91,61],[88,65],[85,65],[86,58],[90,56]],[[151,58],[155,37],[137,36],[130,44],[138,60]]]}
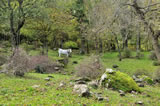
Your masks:
{"label": "greyish-brown dry shrub directly behind and left of the mossy rock", "polygon": [[75,69],[76,76],[91,79],[99,77],[104,72],[99,56],[95,55],[84,59]]}

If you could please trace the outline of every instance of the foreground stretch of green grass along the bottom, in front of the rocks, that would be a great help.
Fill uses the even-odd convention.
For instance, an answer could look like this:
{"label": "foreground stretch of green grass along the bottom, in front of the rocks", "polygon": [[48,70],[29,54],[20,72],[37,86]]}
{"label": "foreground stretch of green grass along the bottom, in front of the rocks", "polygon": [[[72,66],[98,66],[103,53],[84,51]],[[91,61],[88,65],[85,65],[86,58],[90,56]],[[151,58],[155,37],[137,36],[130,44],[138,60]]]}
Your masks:
{"label": "foreground stretch of green grass along the bottom, in front of the rocks", "polygon": [[[136,101],[142,100],[145,105],[158,106],[160,105],[159,87],[145,87],[142,94],[132,96],[127,94],[125,97],[120,97],[119,93],[112,90],[98,89],[92,92],[101,92],[103,96],[109,97],[107,101],[97,101],[94,97],[82,98],[72,92],[72,86],[69,84],[71,76],[53,74],[54,78],[50,81],[51,86],[45,86],[47,81],[44,81],[47,74],[27,74],[24,78],[10,77],[0,75],[0,104],[6,105],[133,105]],[[59,83],[64,81],[67,85],[64,88],[57,89]],[[33,85],[40,85],[40,88],[34,89]],[[150,95],[151,97],[147,97]]]}

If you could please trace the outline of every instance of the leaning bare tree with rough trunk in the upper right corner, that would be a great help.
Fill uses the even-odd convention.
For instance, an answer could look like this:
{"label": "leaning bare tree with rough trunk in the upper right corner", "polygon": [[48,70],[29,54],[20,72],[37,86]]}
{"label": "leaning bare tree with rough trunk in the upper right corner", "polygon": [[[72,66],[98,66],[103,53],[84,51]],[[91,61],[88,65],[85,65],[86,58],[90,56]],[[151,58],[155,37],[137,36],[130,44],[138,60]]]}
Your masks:
{"label": "leaning bare tree with rough trunk in the upper right corner", "polygon": [[160,61],[160,47],[159,47],[160,46],[159,45],[160,30],[154,28],[155,24],[154,25],[153,23],[150,24],[150,21],[154,17],[152,17],[150,20],[148,20],[146,17],[147,13],[149,12],[151,13],[155,12],[157,14],[157,11],[160,10],[160,7],[156,5],[160,5],[160,2],[152,4],[152,2],[150,1],[147,6],[142,7],[138,4],[137,0],[133,0],[132,3],[129,3],[127,5],[130,5],[135,9],[136,14],[139,16],[139,18],[145,25],[145,28],[148,29],[150,37],[152,39],[153,48],[155,50],[158,60]]}

